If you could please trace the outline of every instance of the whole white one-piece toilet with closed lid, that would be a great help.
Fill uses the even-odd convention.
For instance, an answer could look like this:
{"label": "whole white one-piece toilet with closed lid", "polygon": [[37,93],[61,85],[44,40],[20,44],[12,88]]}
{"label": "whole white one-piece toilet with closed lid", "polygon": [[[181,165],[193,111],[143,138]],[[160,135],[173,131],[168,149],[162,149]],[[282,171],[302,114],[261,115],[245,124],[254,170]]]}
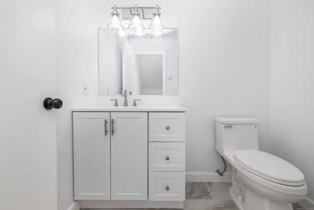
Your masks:
{"label": "whole white one-piece toilet with closed lid", "polygon": [[308,192],[304,176],[287,161],[259,150],[259,120],[215,121],[216,150],[232,165],[229,193],[239,210],[293,210],[292,203]]}

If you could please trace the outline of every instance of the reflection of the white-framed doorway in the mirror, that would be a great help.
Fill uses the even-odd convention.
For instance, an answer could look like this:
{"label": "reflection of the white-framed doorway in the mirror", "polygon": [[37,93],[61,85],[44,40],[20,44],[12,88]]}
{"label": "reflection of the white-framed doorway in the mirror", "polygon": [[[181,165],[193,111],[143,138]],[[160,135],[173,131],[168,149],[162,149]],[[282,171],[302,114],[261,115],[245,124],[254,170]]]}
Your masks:
{"label": "reflection of the white-framed doorway in the mirror", "polygon": [[142,94],[166,94],[165,52],[134,52],[137,58]]}

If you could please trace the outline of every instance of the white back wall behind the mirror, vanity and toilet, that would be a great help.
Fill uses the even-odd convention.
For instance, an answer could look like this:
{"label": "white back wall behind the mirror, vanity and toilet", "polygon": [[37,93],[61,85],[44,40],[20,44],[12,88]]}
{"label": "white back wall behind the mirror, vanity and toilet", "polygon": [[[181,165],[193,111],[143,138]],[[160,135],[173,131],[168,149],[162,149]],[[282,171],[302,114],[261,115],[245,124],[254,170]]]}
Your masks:
{"label": "white back wall behind the mirror, vanity and toilet", "polygon": [[[111,98],[123,104],[121,95],[98,95],[97,28],[106,27],[113,4],[135,3],[149,5],[147,0],[56,1],[57,95],[64,100],[57,126],[58,210],[73,202],[71,107],[113,105]],[[223,167],[215,150],[214,117],[260,119],[260,149],[269,151],[270,1],[157,3],[165,26],[179,28],[179,94],[131,95],[129,101],[188,108],[188,172]],[[82,81],[88,82],[87,96],[81,95]]]}

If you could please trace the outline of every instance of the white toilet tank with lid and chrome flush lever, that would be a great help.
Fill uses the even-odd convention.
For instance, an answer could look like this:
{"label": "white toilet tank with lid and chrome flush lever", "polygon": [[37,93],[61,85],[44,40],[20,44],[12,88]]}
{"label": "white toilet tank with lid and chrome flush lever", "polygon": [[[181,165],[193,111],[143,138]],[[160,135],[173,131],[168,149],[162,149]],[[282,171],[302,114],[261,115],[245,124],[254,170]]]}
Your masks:
{"label": "white toilet tank with lid and chrome flush lever", "polygon": [[228,155],[235,150],[259,150],[259,120],[253,118],[215,118],[216,150]]}

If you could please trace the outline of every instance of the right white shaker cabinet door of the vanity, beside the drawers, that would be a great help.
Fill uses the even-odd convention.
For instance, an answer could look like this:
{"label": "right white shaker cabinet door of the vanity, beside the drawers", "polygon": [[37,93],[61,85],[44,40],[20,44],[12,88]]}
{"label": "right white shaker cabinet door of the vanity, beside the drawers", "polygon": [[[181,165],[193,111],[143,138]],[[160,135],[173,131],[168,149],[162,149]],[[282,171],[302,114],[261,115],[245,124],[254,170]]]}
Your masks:
{"label": "right white shaker cabinet door of the vanity, beside the drawers", "polygon": [[111,200],[147,200],[147,115],[111,113]]}

